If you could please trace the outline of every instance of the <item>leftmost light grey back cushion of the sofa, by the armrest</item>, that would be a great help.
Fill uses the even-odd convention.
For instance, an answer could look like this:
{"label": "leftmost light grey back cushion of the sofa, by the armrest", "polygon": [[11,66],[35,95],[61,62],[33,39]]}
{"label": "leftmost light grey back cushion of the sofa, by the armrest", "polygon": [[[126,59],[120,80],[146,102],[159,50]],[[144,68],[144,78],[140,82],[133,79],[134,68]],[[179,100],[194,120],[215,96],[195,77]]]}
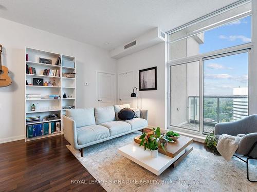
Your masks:
{"label": "leftmost light grey back cushion of the sofa, by the armrest", "polygon": [[66,116],[73,119],[76,122],[77,128],[96,124],[94,108],[67,110]]}

